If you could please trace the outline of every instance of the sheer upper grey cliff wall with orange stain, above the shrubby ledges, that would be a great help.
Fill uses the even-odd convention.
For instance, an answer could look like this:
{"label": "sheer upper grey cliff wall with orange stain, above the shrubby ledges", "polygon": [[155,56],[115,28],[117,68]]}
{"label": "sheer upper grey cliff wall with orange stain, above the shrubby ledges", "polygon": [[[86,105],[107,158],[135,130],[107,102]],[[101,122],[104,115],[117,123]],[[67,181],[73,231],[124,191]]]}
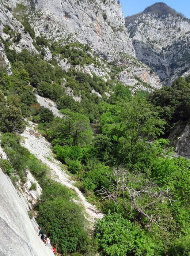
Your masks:
{"label": "sheer upper grey cliff wall with orange stain, above the shrubby ledges", "polygon": [[109,61],[117,61],[119,52],[135,56],[121,4],[115,0],[38,0],[35,8],[35,30],[49,38],[77,39]]}

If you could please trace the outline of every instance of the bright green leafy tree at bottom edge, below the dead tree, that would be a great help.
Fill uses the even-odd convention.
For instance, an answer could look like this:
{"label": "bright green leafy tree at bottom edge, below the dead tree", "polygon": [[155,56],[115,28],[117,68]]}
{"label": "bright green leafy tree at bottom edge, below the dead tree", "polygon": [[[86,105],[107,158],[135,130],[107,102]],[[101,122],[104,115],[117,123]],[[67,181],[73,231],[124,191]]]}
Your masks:
{"label": "bright green leafy tree at bottom edge, below the dead tree", "polygon": [[116,212],[96,221],[94,236],[101,256],[160,256],[164,251],[159,237]]}

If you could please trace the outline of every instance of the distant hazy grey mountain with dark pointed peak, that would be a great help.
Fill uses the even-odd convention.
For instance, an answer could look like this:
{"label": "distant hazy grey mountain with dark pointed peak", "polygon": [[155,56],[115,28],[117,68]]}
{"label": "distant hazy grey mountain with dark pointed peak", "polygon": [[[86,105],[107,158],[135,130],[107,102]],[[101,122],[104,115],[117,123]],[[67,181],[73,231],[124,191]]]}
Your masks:
{"label": "distant hazy grey mountain with dark pointed peak", "polygon": [[137,59],[157,72],[164,85],[190,69],[190,20],[164,3],[125,18]]}

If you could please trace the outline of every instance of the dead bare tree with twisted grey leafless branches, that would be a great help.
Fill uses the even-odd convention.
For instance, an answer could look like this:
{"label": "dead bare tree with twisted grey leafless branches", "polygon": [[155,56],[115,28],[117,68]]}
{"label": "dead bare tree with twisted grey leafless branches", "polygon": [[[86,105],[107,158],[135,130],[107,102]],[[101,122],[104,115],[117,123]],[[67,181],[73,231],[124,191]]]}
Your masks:
{"label": "dead bare tree with twisted grey leafless branches", "polygon": [[[168,200],[172,206],[173,200],[169,195],[170,188],[163,191],[153,182],[142,177],[142,174],[130,173],[121,166],[115,168],[113,173],[107,174],[107,177],[110,182],[110,189],[102,188],[100,190],[99,195],[103,195],[103,199],[107,198],[109,201],[113,200],[114,206],[116,203],[122,203],[125,210],[127,210],[125,199],[128,199],[131,207],[138,212],[139,219],[144,216],[148,219],[149,225],[154,223],[161,229],[164,229],[158,224],[160,222],[159,212],[156,216],[153,216],[152,214],[150,215],[148,211],[153,204],[157,202],[166,203],[166,200]],[[138,186],[137,183],[139,184]],[[138,187],[138,189],[135,187]],[[119,200],[121,197],[124,200]],[[142,205],[146,201],[148,201],[148,203]]]}

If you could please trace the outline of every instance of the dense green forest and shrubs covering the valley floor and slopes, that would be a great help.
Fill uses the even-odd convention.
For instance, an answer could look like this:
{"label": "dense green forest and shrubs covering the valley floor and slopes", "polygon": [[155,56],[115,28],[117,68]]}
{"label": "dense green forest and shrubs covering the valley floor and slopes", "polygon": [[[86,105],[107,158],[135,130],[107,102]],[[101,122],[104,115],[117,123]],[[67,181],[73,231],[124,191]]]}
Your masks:
{"label": "dense green forest and shrubs covering the valley floor and slopes", "polygon": [[[8,28],[7,33],[11,33]],[[101,65],[88,45],[60,46],[43,37],[37,37],[35,44],[39,56],[26,49],[16,53],[4,41],[12,75],[0,68],[1,146],[9,159],[1,163],[15,185],[18,178],[26,182],[27,169],[38,180],[42,195],[34,206],[37,222],[57,252],[189,255],[190,162],[172,158],[167,137],[177,124],[189,121],[190,76],[179,77],[172,87],[132,95],[115,79],[119,68],[113,63],[108,64],[113,72],[107,82],[76,70],[78,64]],[[44,60],[45,45],[53,56],[68,58],[69,71],[62,70],[54,58],[49,63]],[[81,101],[67,95],[66,87]],[[112,91],[109,98],[106,91]],[[36,93],[55,101],[63,118],[41,107]],[[20,146],[19,133],[28,121],[38,124],[57,159],[76,177],[77,187],[103,212],[93,232],[83,209],[72,201],[75,193],[48,178],[47,167]],[[92,122],[99,124],[99,134],[92,133]]]}

